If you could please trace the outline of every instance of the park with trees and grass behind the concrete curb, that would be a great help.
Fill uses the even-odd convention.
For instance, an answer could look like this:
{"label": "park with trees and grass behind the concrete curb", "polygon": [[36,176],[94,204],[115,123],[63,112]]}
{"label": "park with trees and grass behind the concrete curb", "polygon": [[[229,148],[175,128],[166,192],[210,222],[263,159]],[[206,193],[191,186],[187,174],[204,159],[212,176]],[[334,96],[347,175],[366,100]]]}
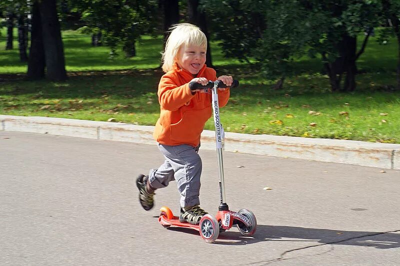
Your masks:
{"label": "park with trees and grass behind the concrete curb", "polygon": [[[400,143],[400,1],[0,0],[0,114],[154,125],[167,29],[240,82],[225,131]],[[206,129],[213,129],[211,119]]]}

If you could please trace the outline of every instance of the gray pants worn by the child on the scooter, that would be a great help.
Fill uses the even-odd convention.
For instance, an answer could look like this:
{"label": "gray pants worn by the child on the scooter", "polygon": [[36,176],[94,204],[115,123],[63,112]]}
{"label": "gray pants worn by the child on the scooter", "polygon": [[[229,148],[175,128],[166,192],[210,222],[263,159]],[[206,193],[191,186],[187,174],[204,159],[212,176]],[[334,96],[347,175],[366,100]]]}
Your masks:
{"label": "gray pants worn by the child on the scooter", "polygon": [[195,206],[200,204],[201,158],[198,148],[182,144],[168,146],[158,143],[158,149],[164,155],[164,163],[158,169],[151,169],[148,174],[150,186],[159,189],[168,186],[176,180],[180,193],[180,206]]}

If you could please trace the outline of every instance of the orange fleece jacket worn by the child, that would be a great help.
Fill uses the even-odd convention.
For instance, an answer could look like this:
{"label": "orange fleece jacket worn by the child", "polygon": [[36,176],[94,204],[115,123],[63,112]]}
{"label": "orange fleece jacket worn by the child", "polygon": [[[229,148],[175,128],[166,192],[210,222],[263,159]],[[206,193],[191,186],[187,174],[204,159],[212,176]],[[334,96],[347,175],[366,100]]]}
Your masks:
{"label": "orange fleece jacket worn by the child", "polygon": [[[197,77],[216,80],[215,70],[205,65]],[[193,79],[190,72],[175,63],[173,70],[165,73],[158,84],[160,116],[155,124],[154,139],[164,145],[200,144],[200,134],[205,122],[211,117],[211,94],[197,91],[191,94],[188,83]],[[226,105],[229,89],[218,90],[219,107]]]}

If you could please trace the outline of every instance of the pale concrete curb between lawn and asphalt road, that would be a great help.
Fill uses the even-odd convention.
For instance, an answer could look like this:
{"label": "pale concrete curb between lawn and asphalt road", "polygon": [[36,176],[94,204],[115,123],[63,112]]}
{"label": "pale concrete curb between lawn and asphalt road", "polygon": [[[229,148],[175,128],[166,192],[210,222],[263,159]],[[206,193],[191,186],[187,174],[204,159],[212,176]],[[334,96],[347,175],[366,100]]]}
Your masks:
{"label": "pale concrete curb between lawn and asphalt road", "polygon": [[[0,115],[0,121],[0,131],[155,144],[153,126],[9,115]],[[201,148],[215,150],[214,138],[213,131],[204,130]],[[225,132],[224,151],[400,169],[400,144]]]}

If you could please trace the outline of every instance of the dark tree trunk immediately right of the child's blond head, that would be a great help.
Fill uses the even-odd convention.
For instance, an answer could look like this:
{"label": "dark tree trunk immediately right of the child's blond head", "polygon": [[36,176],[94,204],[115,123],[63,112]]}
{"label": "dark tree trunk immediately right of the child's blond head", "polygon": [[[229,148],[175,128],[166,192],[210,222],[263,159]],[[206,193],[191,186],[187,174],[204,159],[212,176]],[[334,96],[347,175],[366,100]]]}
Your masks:
{"label": "dark tree trunk immediately right of the child's blond head", "polygon": [[211,60],[211,47],[209,45],[209,34],[207,29],[207,19],[205,13],[198,10],[198,0],[187,0],[187,12],[189,15],[189,23],[197,25],[202,32],[204,32],[205,37],[207,37],[207,52],[205,56],[205,64],[212,67]]}

